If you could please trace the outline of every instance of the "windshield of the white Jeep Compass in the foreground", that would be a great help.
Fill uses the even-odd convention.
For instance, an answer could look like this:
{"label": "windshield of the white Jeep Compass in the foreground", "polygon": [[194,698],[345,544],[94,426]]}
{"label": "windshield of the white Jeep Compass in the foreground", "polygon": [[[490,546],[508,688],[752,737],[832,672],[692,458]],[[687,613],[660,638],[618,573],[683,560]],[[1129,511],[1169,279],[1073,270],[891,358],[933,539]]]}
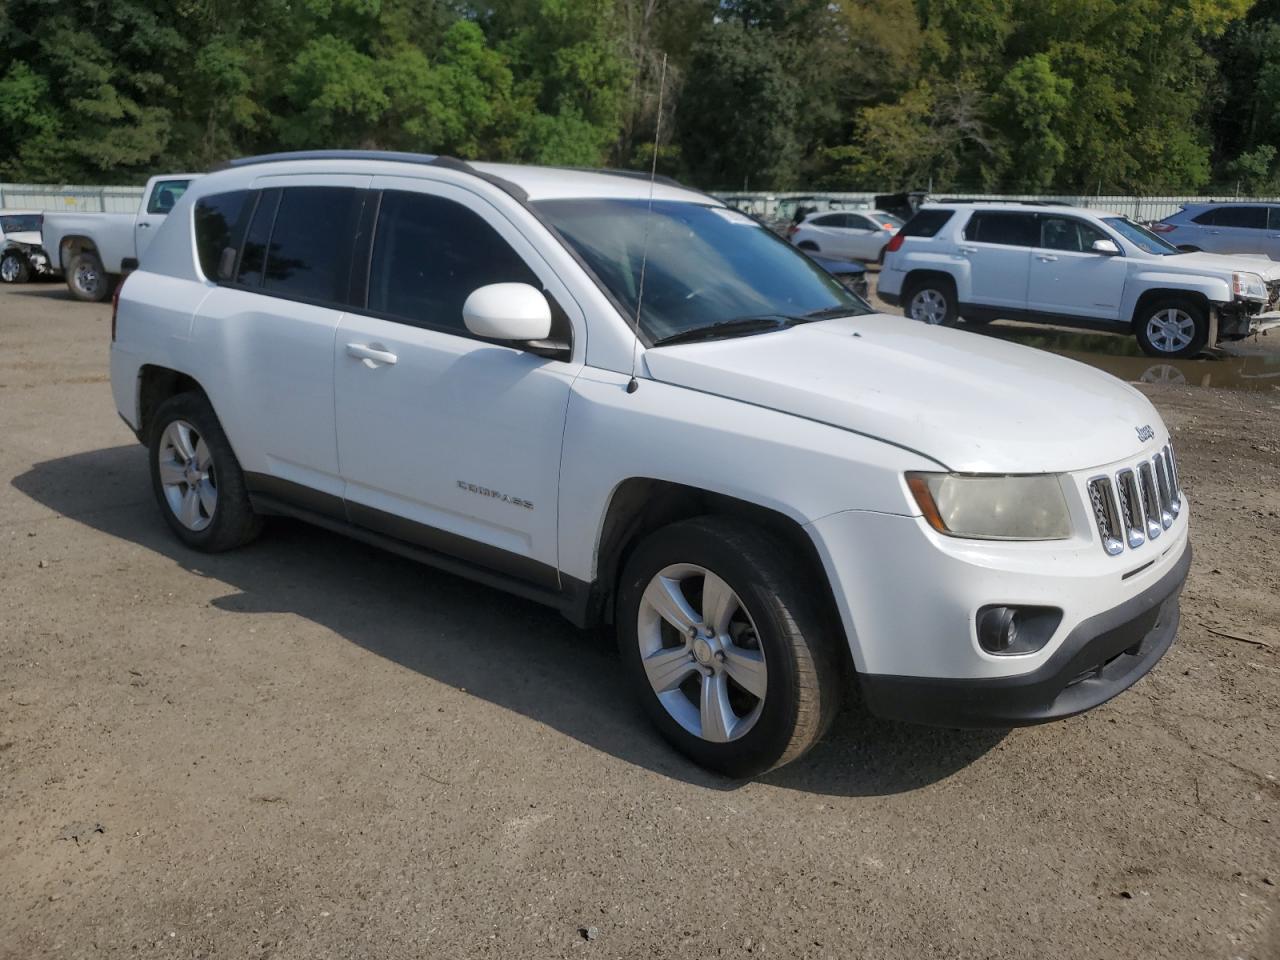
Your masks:
{"label": "windshield of the white Jeep Compass in the foreground", "polygon": [[[534,205],[586,261],[649,343],[742,317],[869,307],[786,241],[736,210],[585,198]],[[644,297],[640,262],[646,248]]]}

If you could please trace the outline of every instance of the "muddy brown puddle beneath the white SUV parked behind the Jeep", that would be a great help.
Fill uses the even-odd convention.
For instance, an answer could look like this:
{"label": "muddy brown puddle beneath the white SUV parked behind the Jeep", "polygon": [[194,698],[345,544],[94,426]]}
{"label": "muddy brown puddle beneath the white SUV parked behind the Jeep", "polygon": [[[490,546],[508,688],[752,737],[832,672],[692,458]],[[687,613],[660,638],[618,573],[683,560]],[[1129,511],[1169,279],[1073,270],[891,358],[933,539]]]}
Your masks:
{"label": "muddy brown puddle beneath the white SUV parked behind the Jeep", "polygon": [[1117,334],[998,323],[978,332],[1060,353],[1129,381],[1217,387],[1226,390],[1280,390],[1280,349],[1276,349],[1280,344],[1274,342],[1275,334],[1228,344],[1217,356],[1156,360],[1143,353],[1133,337]]}

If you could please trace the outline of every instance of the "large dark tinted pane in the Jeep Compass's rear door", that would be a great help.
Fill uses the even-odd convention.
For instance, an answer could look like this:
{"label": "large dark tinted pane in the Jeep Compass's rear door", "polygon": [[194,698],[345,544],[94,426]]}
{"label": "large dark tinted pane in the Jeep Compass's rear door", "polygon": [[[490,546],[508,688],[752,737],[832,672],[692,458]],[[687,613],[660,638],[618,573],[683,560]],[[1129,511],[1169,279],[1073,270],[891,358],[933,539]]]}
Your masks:
{"label": "large dark tinted pane in the Jeep Compass's rear door", "polygon": [[351,187],[284,189],[266,248],[262,289],[291,300],[346,303],[362,204],[364,193]]}

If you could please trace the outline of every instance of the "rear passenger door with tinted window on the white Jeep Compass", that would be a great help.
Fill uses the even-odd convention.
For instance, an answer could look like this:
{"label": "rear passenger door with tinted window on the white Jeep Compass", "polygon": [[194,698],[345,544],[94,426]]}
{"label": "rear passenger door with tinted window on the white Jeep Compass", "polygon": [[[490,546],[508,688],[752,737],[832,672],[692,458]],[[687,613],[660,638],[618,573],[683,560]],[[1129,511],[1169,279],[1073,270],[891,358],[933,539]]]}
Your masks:
{"label": "rear passenger door with tinted window on the white Jeep Compass", "polygon": [[340,513],[333,349],[370,178],[300,179],[257,180],[230,279],[210,264],[220,285],[193,337],[218,358],[211,399],[251,488]]}

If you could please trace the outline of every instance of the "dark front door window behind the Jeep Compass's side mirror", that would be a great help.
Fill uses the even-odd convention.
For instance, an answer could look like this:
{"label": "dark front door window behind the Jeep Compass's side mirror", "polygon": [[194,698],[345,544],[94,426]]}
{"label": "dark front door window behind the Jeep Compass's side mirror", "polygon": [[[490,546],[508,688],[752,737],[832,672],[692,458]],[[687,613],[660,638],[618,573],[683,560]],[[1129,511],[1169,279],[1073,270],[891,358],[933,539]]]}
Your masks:
{"label": "dark front door window behind the Jeep Compass's side mirror", "polygon": [[470,335],[462,305],[490,283],[541,282],[479,214],[426,193],[387,191],[374,233],[369,310]]}

